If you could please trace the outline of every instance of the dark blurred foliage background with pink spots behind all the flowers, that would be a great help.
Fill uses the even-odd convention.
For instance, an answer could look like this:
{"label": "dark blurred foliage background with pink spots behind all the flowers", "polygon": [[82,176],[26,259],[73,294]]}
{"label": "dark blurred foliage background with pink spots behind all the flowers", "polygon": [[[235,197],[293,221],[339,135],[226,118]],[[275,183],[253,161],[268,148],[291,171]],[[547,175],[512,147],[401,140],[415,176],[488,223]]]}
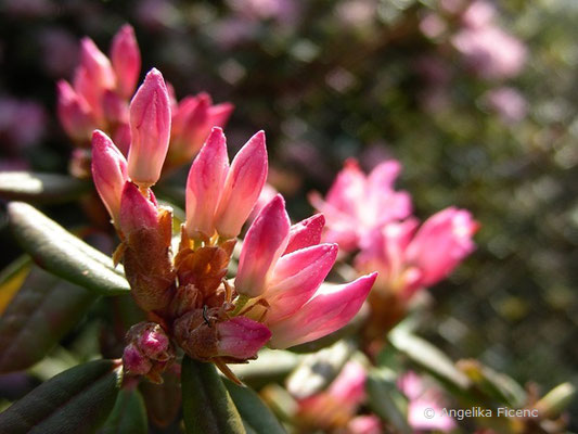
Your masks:
{"label": "dark blurred foliage background with pink spots behind all the flowers", "polygon": [[[104,51],[128,22],[143,71],[159,68],[179,99],[208,91],[235,104],[230,148],[266,130],[269,182],[295,219],[350,156],[365,169],[399,159],[399,187],[423,219],[471,209],[478,250],[431,291],[420,332],[453,359],[478,358],[542,393],[576,382],[578,2],[497,2],[491,26],[516,38],[493,40],[509,69],[492,69],[499,52],[468,58],[471,41],[459,40],[468,4],[4,0],[0,166],[66,173],[55,80],[72,76],[81,36]],[[68,225],[81,218],[73,205],[50,213]],[[8,264],[20,251],[4,220]]]}

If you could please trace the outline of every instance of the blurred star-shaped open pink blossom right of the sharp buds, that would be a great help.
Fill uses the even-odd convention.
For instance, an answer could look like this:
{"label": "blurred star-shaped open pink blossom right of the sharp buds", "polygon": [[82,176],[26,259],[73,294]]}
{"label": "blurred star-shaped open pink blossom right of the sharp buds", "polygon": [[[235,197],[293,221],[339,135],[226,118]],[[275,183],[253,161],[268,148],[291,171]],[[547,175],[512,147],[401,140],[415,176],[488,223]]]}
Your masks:
{"label": "blurred star-shaped open pink blossom right of the sharp buds", "polygon": [[324,241],[352,251],[367,244],[375,229],[408,217],[412,210],[410,195],[394,190],[400,170],[398,162],[388,161],[367,176],[355,159],[347,161],[324,200],[318,193],[309,197],[325,216]]}

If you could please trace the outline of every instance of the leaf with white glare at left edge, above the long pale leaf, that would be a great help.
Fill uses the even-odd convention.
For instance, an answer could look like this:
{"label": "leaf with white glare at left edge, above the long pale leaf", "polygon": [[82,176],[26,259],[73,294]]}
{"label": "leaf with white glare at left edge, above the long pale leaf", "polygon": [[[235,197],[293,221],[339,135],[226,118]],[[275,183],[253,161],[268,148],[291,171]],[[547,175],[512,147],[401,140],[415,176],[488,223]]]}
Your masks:
{"label": "leaf with white glare at left edge, above the long pale leaf", "polygon": [[0,173],[0,197],[34,203],[63,203],[90,191],[90,182],[66,175]]}

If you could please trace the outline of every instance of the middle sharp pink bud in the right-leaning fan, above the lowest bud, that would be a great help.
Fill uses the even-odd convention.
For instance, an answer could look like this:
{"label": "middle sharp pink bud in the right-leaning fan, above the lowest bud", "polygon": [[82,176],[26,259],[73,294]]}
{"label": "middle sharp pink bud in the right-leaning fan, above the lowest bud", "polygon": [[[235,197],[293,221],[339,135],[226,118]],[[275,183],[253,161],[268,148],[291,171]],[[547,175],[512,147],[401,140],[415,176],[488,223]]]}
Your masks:
{"label": "middle sharp pink bud in the right-leaning fan, above the lowest bud", "polygon": [[337,244],[319,244],[282,256],[265,296],[265,322],[274,324],[299,310],[327,277],[337,252]]}

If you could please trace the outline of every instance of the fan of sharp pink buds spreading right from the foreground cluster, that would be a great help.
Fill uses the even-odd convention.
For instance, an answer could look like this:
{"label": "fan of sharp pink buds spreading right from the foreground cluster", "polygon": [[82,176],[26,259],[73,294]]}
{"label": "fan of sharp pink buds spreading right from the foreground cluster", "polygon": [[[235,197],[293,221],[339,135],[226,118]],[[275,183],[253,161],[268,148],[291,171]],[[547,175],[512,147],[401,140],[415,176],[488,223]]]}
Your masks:
{"label": "fan of sharp pink buds spreading right from the foreground cluster", "polygon": [[[318,244],[317,224],[300,226],[301,248],[285,253],[292,228],[278,195],[253,222],[241,250],[235,289],[253,297],[245,315],[271,330],[273,348],[313,341],[344,327],[361,308],[376,277],[322,284],[335,263],[337,245]],[[310,237],[303,233],[307,230]]]}

